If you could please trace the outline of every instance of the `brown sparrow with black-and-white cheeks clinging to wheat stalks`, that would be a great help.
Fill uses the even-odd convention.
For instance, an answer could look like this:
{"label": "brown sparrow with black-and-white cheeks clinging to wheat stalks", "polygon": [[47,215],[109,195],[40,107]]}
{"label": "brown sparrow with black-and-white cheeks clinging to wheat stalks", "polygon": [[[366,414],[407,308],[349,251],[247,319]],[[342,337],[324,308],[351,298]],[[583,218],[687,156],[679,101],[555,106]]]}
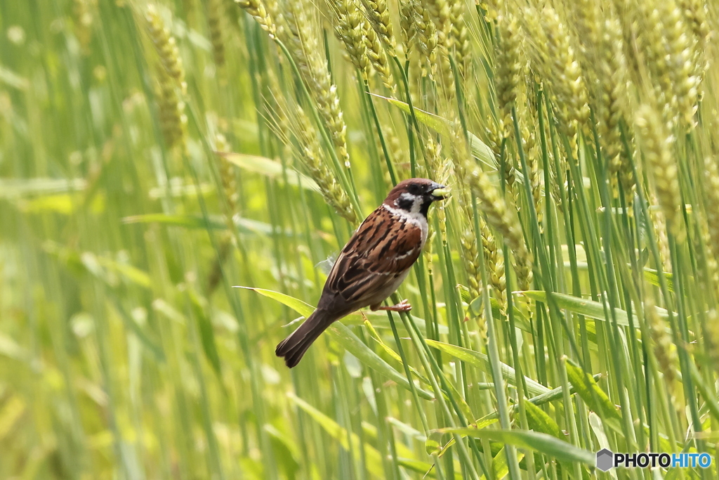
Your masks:
{"label": "brown sparrow with black-and-white cheeks clinging to wheat stalks", "polygon": [[382,302],[394,293],[417,261],[427,240],[427,212],[448,194],[446,186],[427,178],[402,181],[359,225],[334,263],[317,309],[275,353],[289,368],[296,366],[312,343],[332,322],[370,307],[408,312],[403,300],[391,307]]}

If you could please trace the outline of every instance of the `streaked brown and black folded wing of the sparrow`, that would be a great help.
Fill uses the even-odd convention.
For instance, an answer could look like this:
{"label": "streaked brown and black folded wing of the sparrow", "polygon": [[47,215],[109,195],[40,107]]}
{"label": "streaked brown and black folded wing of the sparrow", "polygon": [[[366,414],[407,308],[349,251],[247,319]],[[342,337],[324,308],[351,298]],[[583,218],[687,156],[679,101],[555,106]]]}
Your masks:
{"label": "streaked brown and black folded wing of the sparrow", "polygon": [[356,308],[366,307],[415,263],[421,250],[421,229],[380,207],[342,249],[322,296],[331,293]]}

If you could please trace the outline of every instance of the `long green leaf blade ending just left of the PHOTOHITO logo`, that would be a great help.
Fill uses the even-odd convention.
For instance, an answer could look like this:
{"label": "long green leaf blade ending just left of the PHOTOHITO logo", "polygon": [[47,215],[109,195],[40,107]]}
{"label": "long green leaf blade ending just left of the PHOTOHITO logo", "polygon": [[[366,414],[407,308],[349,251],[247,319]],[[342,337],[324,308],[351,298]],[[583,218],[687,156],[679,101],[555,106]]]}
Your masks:
{"label": "long green leaf blade ending just left of the PHOTOHITO logo", "polygon": [[546,433],[525,430],[480,430],[472,427],[440,428],[431,432],[433,436],[446,434],[493,440],[513,445],[517,448],[544,453],[544,455],[560,462],[581,462],[594,466],[596,461],[595,453],[583,448],[577,448],[571,443],[559,440]]}

